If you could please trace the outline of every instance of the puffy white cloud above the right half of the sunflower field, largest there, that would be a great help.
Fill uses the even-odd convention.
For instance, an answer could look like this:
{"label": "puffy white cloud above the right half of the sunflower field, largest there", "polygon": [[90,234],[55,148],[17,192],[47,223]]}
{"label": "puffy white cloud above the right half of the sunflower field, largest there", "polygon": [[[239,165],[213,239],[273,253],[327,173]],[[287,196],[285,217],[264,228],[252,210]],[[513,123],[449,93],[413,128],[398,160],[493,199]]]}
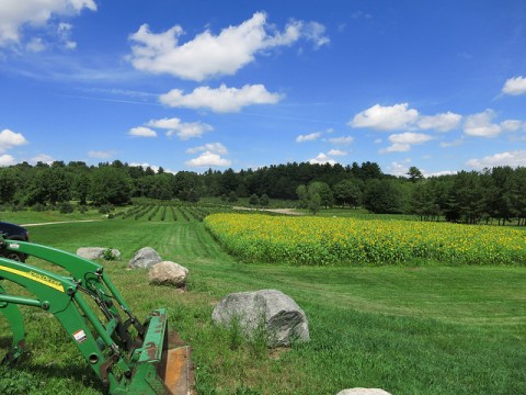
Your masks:
{"label": "puffy white cloud above the right half of the sunflower field, largest there", "polygon": [[356,114],[348,125],[352,127],[370,127],[378,131],[408,128],[419,119],[419,112],[409,109],[408,103],[382,106],[375,104]]}

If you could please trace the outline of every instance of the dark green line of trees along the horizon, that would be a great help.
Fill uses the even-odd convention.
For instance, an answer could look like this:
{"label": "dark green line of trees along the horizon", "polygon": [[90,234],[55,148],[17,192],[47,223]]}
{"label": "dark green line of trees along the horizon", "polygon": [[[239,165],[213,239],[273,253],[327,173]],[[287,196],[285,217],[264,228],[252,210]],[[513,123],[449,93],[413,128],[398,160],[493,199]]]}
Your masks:
{"label": "dark green line of trees along the horizon", "polygon": [[373,213],[414,214],[421,219],[526,225],[526,168],[495,167],[482,171],[424,178],[416,167],[405,177],[385,174],[376,162],[342,165],[289,162],[259,169],[204,173],[130,166],[119,160],[88,166],[55,161],[22,162],[0,169],[0,204],[13,207],[123,205],[133,198],[197,202],[220,196],[251,203],[294,200],[316,212],[334,205],[365,207]]}

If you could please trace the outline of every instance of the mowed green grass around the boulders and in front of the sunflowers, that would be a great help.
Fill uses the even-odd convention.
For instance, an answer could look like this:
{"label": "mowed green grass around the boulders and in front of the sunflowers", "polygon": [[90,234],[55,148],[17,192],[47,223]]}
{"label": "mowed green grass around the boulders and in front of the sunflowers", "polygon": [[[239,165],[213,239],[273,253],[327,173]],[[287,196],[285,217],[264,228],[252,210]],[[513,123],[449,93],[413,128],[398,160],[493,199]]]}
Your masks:
{"label": "mowed green grass around the boulders and in front of the sunflowers", "polygon": [[[526,394],[525,268],[245,264],[195,221],[116,218],[30,230],[34,242],[70,252],[119,249],[119,261],[103,262],[106,272],[139,316],[168,307],[170,327],[193,347],[199,394],[336,394],[358,386],[392,394]],[[187,292],[150,286],[145,271],[126,270],[146,246],[190,269]],[[258,339],[244,341],[213,325],[224,296],[261,289],[299,304],[310,342],[266,350]],[[58,321],[23,311],[32,356],[0,371],[0,390],[99,394],[96,376]],[[1,316],[0,330],[1,354],[10,341]]]}

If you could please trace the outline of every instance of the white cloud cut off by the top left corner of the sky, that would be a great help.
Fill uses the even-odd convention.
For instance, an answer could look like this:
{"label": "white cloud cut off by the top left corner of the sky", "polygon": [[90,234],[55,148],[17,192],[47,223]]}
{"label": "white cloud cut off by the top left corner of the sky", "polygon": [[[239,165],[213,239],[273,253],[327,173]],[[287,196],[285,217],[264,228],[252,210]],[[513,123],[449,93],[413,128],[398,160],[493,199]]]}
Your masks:
{"label": "white cloud cut off by the top left corner of the sky", "polygon": [[83,9],[96,11],[94,0],[0,1],[0,46],[20,43],[26,24],[42,27],[55,16],[76,15]]}

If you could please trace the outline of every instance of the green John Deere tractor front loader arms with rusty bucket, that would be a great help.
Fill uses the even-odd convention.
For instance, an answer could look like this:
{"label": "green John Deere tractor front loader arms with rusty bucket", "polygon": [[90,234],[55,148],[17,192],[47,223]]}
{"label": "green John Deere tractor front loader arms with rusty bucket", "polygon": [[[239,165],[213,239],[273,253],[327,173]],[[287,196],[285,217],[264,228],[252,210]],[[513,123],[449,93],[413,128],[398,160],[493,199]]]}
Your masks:
{"label": "green John Deere tractor front loader arms with rusty bucket", "polygon": [[41,258],[69,273],[0,257],[0,280],[16,283],[34,296],[9,294],[0,281],[0,314],[13,332],[2,363],[12,364],[26,351],[18,306],[33,306],[58,319],[110,394],[193,394],[191,349],[168,330],[164,308],[140,321],[104,268],[73,253],[2,237],[0,249]]}

